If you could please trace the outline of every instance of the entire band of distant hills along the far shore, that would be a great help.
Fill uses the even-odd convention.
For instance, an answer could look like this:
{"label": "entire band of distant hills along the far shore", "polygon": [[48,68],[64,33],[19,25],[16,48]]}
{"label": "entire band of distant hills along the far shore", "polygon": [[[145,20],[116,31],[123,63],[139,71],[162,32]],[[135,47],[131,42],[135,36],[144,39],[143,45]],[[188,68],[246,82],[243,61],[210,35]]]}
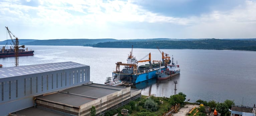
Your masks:
{"label": "entire band of distant hills along the far shore", "polygon": [[[171,39],[171,38],[150,38],[150,39],[19,39],[20,45],[72,45],[72,46],[93,46],[107,48],[156,48],[161,49],[233,49],[256,51],[256,38],[251,39]],[[12,41],[8,40],[8,45]],[[5,41],[0,41],[5,45]]]}

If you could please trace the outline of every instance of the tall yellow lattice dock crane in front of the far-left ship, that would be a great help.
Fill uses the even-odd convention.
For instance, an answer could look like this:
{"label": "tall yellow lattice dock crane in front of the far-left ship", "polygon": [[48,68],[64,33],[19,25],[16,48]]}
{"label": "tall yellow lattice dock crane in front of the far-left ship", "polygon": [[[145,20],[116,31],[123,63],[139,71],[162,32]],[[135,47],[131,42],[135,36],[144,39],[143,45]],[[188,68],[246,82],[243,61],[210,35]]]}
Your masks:
{"label": "tall yellow lattice dock crane in front of the far-left ship", "polygon": [[[10,36],[10,38],[12,40],[13,47],[15,49],[15,66],[19,66],[19,54],[18,54],[18,51],[19,51],[20,47],[21,48],[25,48],[25,45],[19,46],[19,39],[18,39],[18,37],[15,37],[12,34],[12,32],[8,29],[8,27],[5,27],[5,28],[7,29],[8,33],[9,33],[9,36]],[[15,42],[13,41],[11,34],[12,34],[13,37],[15,37]]]}

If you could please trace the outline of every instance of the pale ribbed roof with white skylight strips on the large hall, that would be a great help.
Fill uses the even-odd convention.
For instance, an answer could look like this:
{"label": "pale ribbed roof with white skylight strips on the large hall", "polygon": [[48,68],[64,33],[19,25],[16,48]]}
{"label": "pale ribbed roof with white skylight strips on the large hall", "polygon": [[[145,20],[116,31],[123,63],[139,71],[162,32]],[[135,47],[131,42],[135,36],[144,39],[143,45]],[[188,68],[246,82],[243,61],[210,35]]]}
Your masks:
{"label": "pale ribbed roof with white skylight strips on the large hall", "polygon": [[83,65],[75,62],[58,62],[58,63],[47,63],[47,64],[0,68],[0,79],[22,76],[22,75],[30,75],[30,74],[36,74],[36,73],[58,71],[63,69],[72,69],[72,68],[78,68],[78,67],[84,67],[84,66],[87,66],[87,65]]}

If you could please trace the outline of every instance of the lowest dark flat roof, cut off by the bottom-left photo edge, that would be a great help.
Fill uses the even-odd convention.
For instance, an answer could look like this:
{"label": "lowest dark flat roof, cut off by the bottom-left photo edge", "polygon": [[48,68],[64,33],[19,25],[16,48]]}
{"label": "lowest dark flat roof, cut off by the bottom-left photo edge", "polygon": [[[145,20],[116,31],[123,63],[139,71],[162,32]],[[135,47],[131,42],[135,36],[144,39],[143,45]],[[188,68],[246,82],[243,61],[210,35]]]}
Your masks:
{"label": "lowest dark flat roof, cut off by the bottom-left photo edge", "polygon": [[34,108],[34,107],[13,112],[11,114],[15,116],[66,116],[64,114],[60,114],[57,112],[48,111],[41,108]]}

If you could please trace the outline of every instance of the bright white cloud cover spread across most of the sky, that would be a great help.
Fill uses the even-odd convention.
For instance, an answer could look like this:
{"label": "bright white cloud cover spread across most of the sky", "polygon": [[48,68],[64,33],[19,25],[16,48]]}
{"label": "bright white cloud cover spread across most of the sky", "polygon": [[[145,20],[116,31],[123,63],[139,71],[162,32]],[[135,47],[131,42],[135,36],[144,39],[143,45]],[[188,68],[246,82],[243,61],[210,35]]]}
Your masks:
{"label": "bright white cloud cover spread across most of the sky", "polygon": [[[191,3],[189,0],[171,3],[175,5],[181,2],[182,4]],[[154,2],[154,4],[157,3]],[[145,9],[141,5],[143,4],[140,4],[140,1],[133,0],[4,0],[0,1],[0,24],[21,28],[34,27],[44,32],[47,32],[45,28],[50,27],[50,31],[59,35],[55,36],[54,32],[48,32],[48,36],[52,38],[85,37],[85,35],[67,35],[69,31],[86,31],[88,38],[129,38],[129,36],[131,38],[143,38],[143,36],[145,38],[244,38],[256,36],[255,32],[252,32],[256,30],[255,0],[244,1],[243,4],[231,9],[214,8],[210,12],[187,17],[164,15],[164,13]],[[172,10],[175,12],[175,9]],[[61,32],[57,32],[59,30],[65,33],[62,35]],[[98,33],[101,34],[98,35]],[[122,34],[118,34],[118,37],[116,33]],[[28,36],[35,35],[25,35],[25,37]],[[46,36],[40,35],[44,38],[47,38]]]}

